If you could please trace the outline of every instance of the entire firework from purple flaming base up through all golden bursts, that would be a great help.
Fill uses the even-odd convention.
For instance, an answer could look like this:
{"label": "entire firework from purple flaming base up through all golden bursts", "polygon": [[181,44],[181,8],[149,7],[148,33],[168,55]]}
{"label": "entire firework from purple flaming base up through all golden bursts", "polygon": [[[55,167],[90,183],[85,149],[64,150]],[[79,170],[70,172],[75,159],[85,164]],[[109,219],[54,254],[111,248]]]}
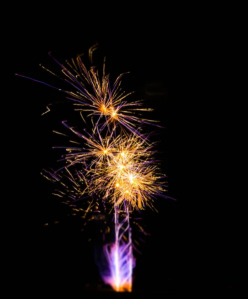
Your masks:
{"label": "entire firework from purple flaming base up through all golden bursts", "polygon": [[[91,62],[95,49],[96,45],[89,49]],[[85,129],[84,133],[80,133],[66,121],[62,122],[83,141],[83,147],[77,143],[78,146],[63,148],[66,151],[62,156],[65,165],[57,170],[44,170],[43,175],[64,187],[64,192],[56,190],[54,193],[59,197],[67,193],[73,202],[98,197],[114,210],[115,242],[104,247],[110,272],[108,275],[102,273],[102,278],[117,292],[131,292],[135,259],[130,212],[147,206],[154,208],[153,199],[167,197],[164,195],[166,185],[162,181],[165,175],[160,173],[158,162],[154,159],[155,144],[151,144],[149,136],[142,133],[143,125],[156,122],[136,116],[152,109],[142,109],[139,101],[127,102],[126,98],[132,93],[126,94],[121,90],[124,74],[119,75],[111,87],[109,74],[105,74],[105,59],[100,75],[95,66],[88,70],[81,57],[78,55],[76,60],[66,61],[66,66],[52,57],[61,67],[62,77],[42,66],[68,83],[73,91],[44,84],[65,92],[67,99],[76,106],[75,110],[80,111],[84,122],[86,115],[91,118],[93,126],[92,133]],[[47,109],[45,113],[50,111]],[[97,201],[88,203],[84,218]],[[120,211],[124,215],[122,221]]]}

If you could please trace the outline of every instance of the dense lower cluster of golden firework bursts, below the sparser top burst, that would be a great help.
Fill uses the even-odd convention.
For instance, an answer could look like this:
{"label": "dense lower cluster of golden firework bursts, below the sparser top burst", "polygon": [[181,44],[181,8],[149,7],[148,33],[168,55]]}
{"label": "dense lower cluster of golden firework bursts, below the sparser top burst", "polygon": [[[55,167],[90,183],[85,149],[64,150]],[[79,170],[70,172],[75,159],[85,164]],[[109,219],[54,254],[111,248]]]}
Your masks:
{"label": "dense lower cluster of golden firework bursts, below the sparser top burst", "polygon": [[[50,173],[53,179],[58,180],[59,171],[64,169],[74,184],[79,181],[75,184],[79,188],[77,194],[99,194],[102,200],[119,208],[124,204],[137,210],[152,207],[154,198],[164,196],[164,176],[158,174],[160,170],[147,138],[140,139],[132,133],[102,138],[99,131],[85,136],[68,128],[85,141],[85,147],[66,148],[65,166]],[[75,166],[80,168],[75,172],[77,179],[70,172]]]}

